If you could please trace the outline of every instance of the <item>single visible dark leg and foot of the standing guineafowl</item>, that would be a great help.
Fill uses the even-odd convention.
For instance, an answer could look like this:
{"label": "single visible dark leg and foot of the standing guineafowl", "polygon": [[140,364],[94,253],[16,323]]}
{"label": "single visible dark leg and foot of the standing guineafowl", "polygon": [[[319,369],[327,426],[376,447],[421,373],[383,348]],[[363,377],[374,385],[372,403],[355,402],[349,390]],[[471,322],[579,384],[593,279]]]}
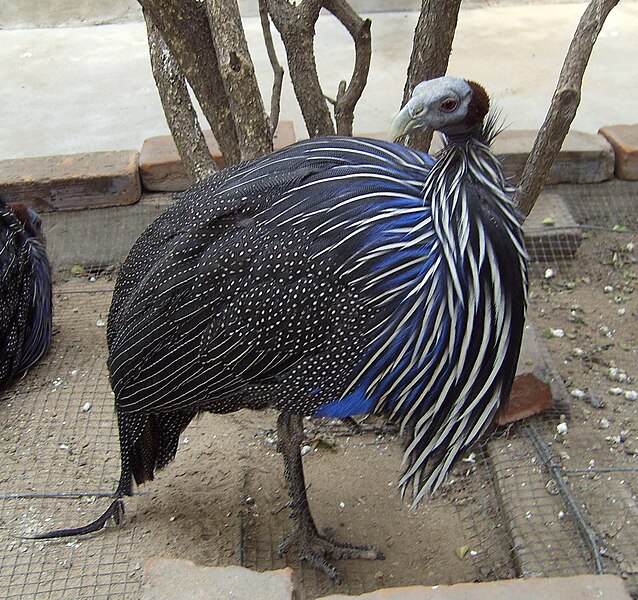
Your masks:
{"label": "single visible dark leg and foot of the standing guineafowl", "polygon": [[299,546],[299,557],[308,561],[314,568],[323,571],[335,582],[340,581],[339,571],[328,559],[363,558],[375,560],[384,558],[374,546],[354,546],[340,544],[317,531],[308,497],[301,462],[301,443],[303,442],[303,417],[282,412],[277,419],[279,450],[284,455],[284,473],[288,483],[291,502],[292,531],[279,546],[279,555],[283,556],[293,544]]}

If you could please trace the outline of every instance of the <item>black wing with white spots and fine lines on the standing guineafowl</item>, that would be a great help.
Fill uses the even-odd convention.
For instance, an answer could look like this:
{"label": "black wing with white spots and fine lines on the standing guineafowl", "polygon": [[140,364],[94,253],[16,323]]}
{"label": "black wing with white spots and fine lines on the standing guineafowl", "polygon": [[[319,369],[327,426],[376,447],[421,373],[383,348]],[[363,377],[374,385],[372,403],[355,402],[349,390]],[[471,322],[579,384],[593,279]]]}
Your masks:
{"label": "black wing with white spots and fine lines on the standing guineafowl", "polygon": [[[269,185],[288,188],[308,173]],[[257,223],[247,202],[175,236],[128,295],[109,356],[118,410],[223,404],[320,353],[351,310],[309,259],[311,240]]]}

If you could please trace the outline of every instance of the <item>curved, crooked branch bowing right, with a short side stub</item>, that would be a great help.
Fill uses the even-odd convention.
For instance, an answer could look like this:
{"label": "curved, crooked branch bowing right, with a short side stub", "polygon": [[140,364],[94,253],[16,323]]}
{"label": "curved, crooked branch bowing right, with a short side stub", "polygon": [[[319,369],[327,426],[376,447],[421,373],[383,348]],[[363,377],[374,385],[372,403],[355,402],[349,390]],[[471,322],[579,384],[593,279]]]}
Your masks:
{"label": "curved, crooked branch bowing right, with a short side stub", "polygon": [[345,81],[341,82],[335,103],[337,134],[352,135],[354,108],[368,82],[370,71],[372,22],[370,19],[364,21],[345,0],[324,0],[324,6],[348,30],[354,41],[355,61],[352,78],[347,87]]}

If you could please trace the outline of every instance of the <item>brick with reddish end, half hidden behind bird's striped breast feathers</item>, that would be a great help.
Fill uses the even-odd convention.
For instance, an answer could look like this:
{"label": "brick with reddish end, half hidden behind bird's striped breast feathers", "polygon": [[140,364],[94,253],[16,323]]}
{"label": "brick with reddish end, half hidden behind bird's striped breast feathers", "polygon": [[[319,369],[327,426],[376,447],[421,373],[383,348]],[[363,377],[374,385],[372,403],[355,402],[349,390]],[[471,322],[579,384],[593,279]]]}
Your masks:
{"label": "brick with reddish end, half hidden behind bird's striped breast feathers", "polygon": [[507,425],[536,415],[554,405],[551,388],[545,382],[545,361],[536,333],[525,327],[521,355],[512,391],[496,415],[497,425]]}

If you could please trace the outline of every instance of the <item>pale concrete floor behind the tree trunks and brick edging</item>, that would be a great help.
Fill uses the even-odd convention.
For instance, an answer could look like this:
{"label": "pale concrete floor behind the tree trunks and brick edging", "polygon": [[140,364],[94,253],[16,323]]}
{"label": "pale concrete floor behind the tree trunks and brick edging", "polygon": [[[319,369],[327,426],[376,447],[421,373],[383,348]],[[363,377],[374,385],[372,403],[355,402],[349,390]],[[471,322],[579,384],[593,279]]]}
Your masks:
{"label": "pale concrete floor behind the tree trunks and brick edging", "polygon": [[[485,85],[512,128],[538,128],[585,4],[470,6],[461,12],[449,73]],[[370,16],[373,57],[356,112],[360,134],[384,131],[399,108],[418,15]],[[258,19],[247,18],[245,27],[269,97]],[[333,95],[339,80],[349,77],[351,42],[329,15],[317,30],[319,72]],[[594,48],[574,129],[638,122],[637,39],[638,1],[623,0]],[[0,30],[0,81],[0,159],[139,149],[145,138],[168,132],[139,22]],[[306,136],[289,80],[281,118],[295,123],[298,137]]]}

